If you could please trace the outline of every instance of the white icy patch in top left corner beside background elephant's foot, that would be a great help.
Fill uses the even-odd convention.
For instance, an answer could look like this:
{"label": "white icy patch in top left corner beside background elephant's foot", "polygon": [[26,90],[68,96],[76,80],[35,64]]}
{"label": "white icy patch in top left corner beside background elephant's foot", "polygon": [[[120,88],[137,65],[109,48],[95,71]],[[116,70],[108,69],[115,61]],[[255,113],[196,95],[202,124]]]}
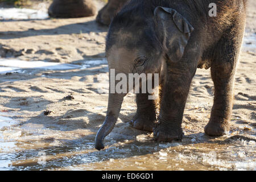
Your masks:
{"label": "white icy patch in top left corner beside background elephant's foot", "polygon": [[46,19],[46,10],[32,10],[19,8],[0,8],[0,19]]}

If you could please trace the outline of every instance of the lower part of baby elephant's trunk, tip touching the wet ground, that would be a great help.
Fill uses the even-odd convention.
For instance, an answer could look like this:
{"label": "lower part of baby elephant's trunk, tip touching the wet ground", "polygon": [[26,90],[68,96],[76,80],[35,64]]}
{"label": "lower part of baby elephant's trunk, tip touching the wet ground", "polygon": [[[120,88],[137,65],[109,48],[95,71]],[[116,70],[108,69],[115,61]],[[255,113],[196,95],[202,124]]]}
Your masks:
{"label": "lower part of baby elephant's trunk, tip touching the wet ground", "polygon": [[113,130],[121,110],[123,97],[125,94],[109,93],[108,111],[105,121],[96,135],[95,148],[104,149],[104,138]]}

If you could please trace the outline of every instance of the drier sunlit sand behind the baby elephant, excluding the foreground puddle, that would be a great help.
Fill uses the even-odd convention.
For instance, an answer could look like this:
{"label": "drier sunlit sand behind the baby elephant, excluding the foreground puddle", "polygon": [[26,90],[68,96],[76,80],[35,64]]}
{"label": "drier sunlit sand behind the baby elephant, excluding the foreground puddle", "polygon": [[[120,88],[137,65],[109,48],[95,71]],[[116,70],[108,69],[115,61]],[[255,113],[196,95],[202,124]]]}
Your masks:
{"label": "drier sunlit sand behind the baby elephant, excluding the foreground puddle", "polygon": [[[250,3],[246,31],[256,34],[256,13],[253,9],[256,3],[254,0]],[[94,19],[1,20],[1,56],[77,65],[86,64],[88,60],[104,60],[108,28],[98,26]],[[224,139],[233,135],[255,136],[255,68],[255,53],[243,51],[234,84],[231,133]],[[191,138],[197,142],[209,140],[203,133],[213,105],[213,92],[210,71],[198,69],[184,112],[184,142]],[[0,75],[0,111],[14,113],[12,118],[20,122],[19,129],[23,133],[19,142],[40,141],[41,146],[49,146],[51,138],[75,137],[93,142],[105,118],[106,93],[106,64],[68,71],[24,69],[22,73]],[[67,96],[70,97],[65,98]],[[136,111],[134,100],[134,94],[126,96],[117,125],[106,142],[147,134],[129,127],[128,123]],[[38,129],[48,129],[50,134],[36,138],[32,133]]]}

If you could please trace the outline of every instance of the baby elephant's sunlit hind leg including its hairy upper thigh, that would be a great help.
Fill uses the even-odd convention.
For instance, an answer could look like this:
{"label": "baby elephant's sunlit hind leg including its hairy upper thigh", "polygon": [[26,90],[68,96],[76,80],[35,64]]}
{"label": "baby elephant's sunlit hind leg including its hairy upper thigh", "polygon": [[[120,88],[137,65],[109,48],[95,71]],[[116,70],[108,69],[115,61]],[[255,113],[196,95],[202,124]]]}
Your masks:
{"label": "baby elephant's sunlit hind leg including its hairy upper thigh", "polygon": [[230,129],[234,74],[240,55],[243,30],[243,27],[232,27],[228,32],[233,32],[237,37],[225,35],[217,46],[217,56],[210,69],[214,83],[214,102],[210,121],[204,129],[205,133],[210,136],[224,135]]}

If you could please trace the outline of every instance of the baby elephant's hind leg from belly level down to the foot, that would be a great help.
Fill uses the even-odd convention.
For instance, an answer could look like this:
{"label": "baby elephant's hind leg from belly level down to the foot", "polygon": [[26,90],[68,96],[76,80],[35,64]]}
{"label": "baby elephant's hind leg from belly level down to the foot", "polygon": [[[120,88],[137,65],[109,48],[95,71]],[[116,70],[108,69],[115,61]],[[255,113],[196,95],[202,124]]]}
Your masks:
{"label": "baby elephant's hind leg from belly level down to the foot", "polygon": [[221,136],[229,131],[233,100],[233,72],[232,63],[222,63],[211,68],[214,82],[214,103],[210,121],[205,126],[205,133],[210,136]]}

